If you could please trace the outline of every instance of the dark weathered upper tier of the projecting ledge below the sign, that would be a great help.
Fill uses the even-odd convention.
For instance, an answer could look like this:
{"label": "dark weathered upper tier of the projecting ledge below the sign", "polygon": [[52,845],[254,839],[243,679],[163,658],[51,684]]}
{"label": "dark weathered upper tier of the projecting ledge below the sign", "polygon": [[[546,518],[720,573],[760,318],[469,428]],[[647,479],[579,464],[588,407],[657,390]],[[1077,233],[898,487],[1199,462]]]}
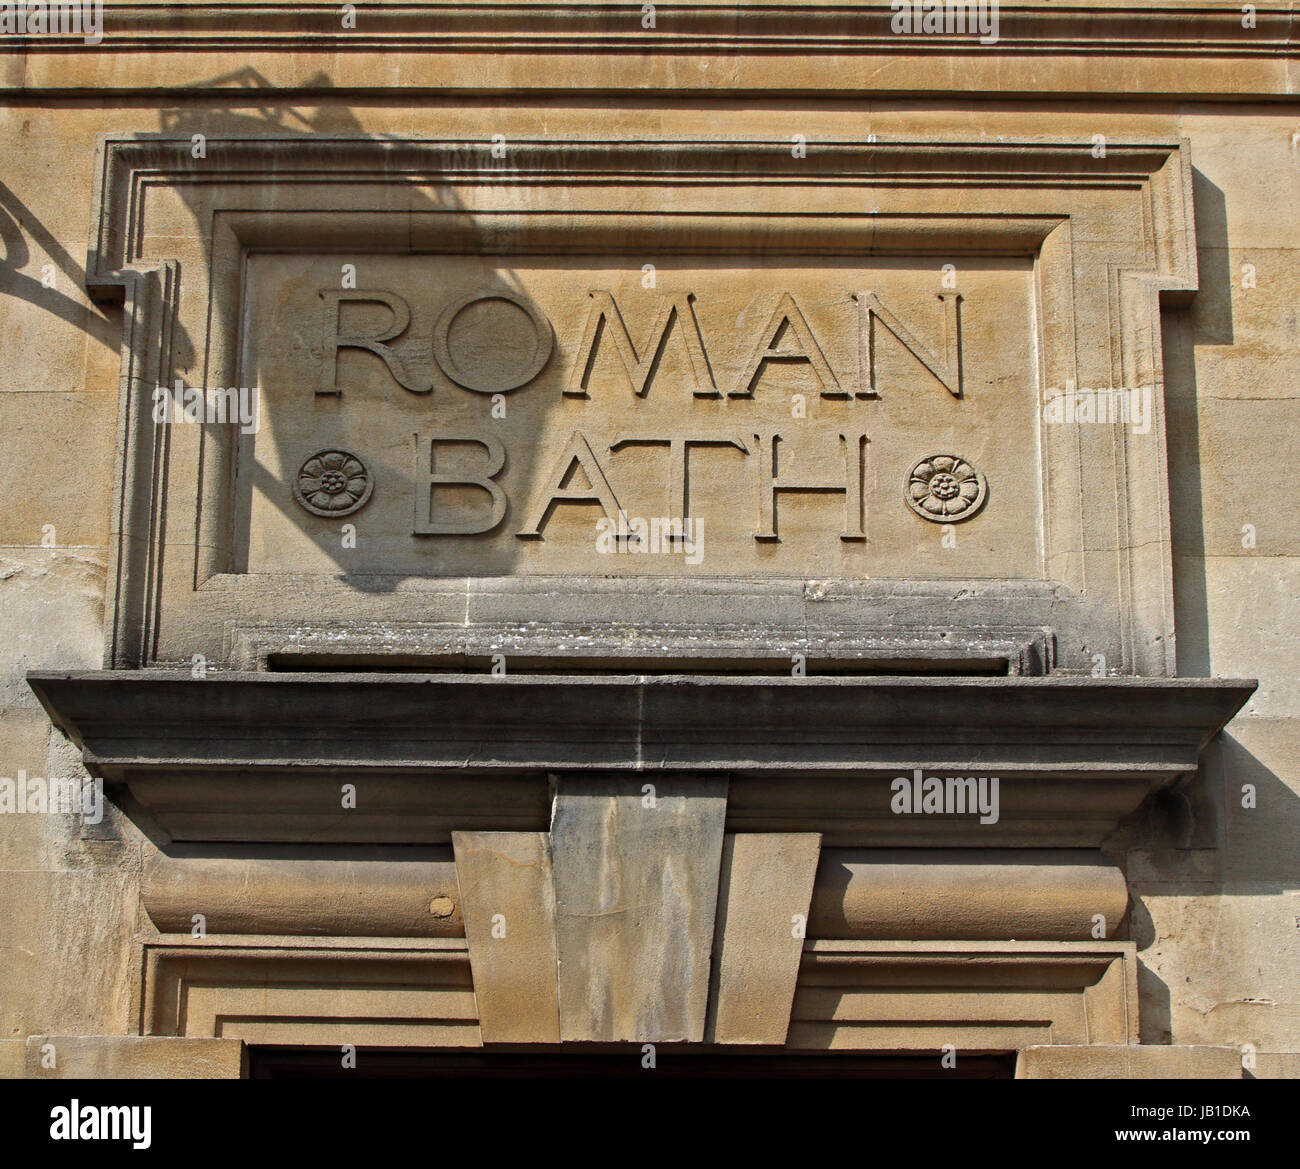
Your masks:
{"label": "dark weathered upper tier of the projecting ledge below the sign", "polygon": [[1173,779],[1256,683],[714,675],[29,675],[98,774],[996,766]]}

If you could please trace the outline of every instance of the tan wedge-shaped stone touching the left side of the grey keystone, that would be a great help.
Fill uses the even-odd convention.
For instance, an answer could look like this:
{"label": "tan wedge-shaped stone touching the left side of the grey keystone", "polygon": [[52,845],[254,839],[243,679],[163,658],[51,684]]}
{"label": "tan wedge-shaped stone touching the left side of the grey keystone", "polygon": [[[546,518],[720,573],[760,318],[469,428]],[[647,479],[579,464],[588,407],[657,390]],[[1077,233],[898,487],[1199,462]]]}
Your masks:
{"label": "tan wedge-shaped stone touching the left side of the grey keystone", "polygon": [[558,1043],[555,882],[543,832],[454,832],[484,1043]]}

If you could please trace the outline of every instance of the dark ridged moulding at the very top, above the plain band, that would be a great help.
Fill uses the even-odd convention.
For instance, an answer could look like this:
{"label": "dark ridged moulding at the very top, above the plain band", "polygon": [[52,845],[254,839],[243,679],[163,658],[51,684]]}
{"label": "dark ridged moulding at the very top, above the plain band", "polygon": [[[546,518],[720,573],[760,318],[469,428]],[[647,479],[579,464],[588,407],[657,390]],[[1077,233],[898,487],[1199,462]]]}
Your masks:
{"label": "dark ridged moulding at the very top, above the plain band", "polygon": [[[343,29],[338,4],[107,4],[104,40],[14,38],[23,52],[86,49],[277,48],[295,52],[593,52],[593,53],[849,53],[893,55],[902,35],[893,9],[868,4],[655,4],[642,27],[640,4],[360,4]],[[909,49],[950,53],[1158,53],[1297,56],[1288,4],[1256,5],[1256,26],[1231,4],[1002,4],[998,40],[936,33]],[[304,43],[304,38],[311,38]]]}

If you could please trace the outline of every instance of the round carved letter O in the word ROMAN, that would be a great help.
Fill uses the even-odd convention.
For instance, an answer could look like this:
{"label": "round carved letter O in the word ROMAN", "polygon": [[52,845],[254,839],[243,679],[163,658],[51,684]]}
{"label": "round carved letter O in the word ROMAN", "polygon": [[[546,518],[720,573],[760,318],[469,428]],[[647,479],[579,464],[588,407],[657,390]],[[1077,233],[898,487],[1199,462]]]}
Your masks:
{"label": "round carved letter O in the word ROMAN", "polygon": [[546,315],[506,291],[473,293],[448,304],[433,326],[433,356],[458,386],[508,394],[528,385],[551,358]]}

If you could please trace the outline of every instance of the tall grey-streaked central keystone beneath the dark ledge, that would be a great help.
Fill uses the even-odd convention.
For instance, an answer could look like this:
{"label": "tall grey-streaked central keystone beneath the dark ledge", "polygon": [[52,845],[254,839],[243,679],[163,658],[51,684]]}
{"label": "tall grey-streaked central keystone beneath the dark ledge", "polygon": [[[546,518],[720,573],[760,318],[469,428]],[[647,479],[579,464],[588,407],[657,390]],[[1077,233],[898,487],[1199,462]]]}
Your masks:
{"label": "tall grey-streaked central keystone beneath the dark ledge", "polygon": [[725,806],[725,779],[559,776],[564,1040],[703,1039]]}

